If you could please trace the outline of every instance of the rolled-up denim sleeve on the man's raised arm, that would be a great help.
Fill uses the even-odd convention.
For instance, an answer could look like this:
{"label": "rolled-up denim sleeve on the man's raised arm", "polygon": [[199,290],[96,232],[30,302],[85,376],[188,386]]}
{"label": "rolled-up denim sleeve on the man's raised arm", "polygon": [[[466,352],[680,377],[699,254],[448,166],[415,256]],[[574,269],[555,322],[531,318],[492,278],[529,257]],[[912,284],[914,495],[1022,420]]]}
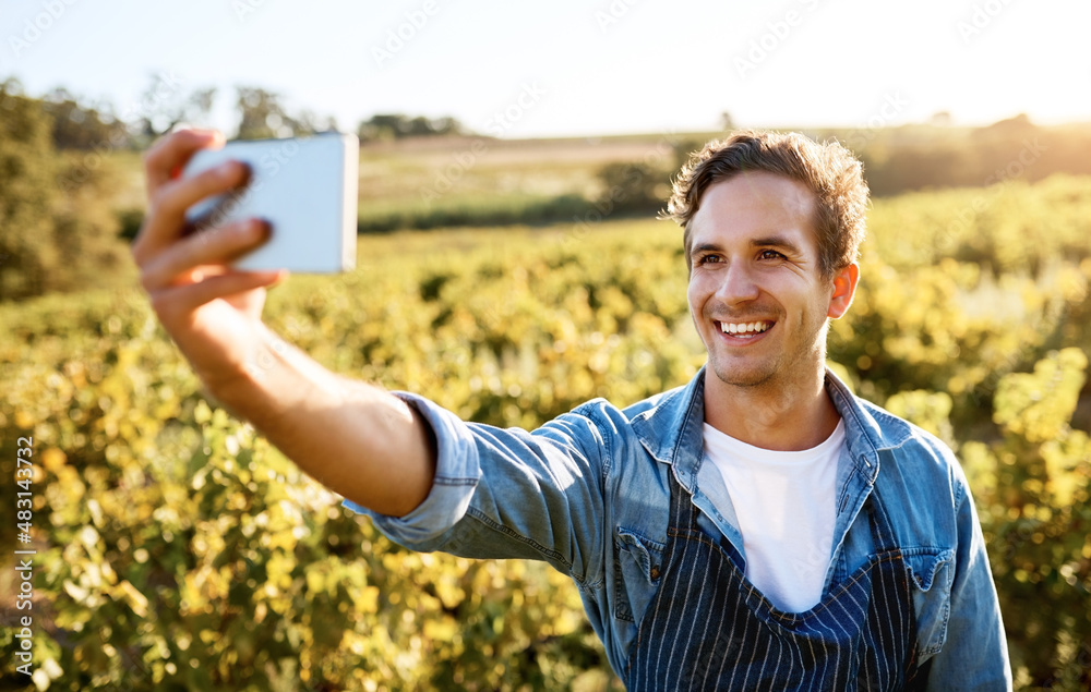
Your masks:
{"label": "rolled-up denim sleeve on the man's raised arm", "polygon": [[577,582],[588,578],[604,539],[603,478],[609,440],[596,423],[597,400],[541,428],[499,428],[461,421],[408,392],[392,392],[420,412],[436,442],[424,501],[405,517],[350,500],[395,543],[473,558],[546,560]]}

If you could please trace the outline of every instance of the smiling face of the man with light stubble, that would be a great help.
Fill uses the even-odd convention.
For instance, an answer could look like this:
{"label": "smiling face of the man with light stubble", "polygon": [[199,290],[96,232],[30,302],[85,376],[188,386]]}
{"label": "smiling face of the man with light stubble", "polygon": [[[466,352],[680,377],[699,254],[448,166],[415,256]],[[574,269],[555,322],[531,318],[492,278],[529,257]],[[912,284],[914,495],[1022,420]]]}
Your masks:
{"label": "smiling face of the man with light stubble", "polygon": [[826,318],[848,304],[831,305],[814,213],[805,185],[764,171],[705,191],[691,220],[687,296],[709,368],[724,385],[786,384],[822,367]]}

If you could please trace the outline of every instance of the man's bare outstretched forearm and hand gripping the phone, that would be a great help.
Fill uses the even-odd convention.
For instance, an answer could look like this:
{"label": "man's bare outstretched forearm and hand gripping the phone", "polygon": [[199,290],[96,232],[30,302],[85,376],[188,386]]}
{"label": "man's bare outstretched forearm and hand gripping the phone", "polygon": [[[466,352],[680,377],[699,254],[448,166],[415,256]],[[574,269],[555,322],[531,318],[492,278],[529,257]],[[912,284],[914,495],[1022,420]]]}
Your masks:
{"label": "man's bare outstretched forearm and hand gripping the phone", "polygon": [[223,144],[219,133],[181,131],[145,155],[148,210],[132,252],[152,307],[208,391],[303,471],[373,511],[405,515],[428,496],[435,469],[420,415],[331,373],[262,323],[265,290],[286,272],[229,266],[268,238],[261,221],[184,233],[190,206],[247,178],[237,161],[179,177],[195,151]]}

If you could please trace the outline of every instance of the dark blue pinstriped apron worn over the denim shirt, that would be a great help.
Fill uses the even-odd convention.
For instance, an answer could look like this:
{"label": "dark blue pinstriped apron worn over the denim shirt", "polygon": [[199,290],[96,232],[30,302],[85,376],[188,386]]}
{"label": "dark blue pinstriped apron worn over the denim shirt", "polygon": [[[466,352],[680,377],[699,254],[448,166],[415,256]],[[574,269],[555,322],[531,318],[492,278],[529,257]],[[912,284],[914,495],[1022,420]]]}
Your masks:
{"label": "dark blue pinstriped apron worn over the denim shirt", "polygon": [[923,689],[909,576],[874,489],[865,507],[875,554],[796,614],[744,578],[734,547],[698,526],[691,495],[668,476],[661,582],[630,649],[628,690]]}

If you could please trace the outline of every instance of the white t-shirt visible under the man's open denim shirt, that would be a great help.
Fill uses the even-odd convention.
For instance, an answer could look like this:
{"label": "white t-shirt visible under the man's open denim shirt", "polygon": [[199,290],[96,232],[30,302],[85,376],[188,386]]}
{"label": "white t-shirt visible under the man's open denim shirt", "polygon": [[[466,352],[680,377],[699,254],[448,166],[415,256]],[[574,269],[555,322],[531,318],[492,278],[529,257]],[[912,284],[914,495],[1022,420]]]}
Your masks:
{"label": "white t-shirt visible under the man's open denim shirt", "polygon": [[746,554],[746,579],[777,608],[822,599],[834,543],[837,460],[844,423],[803,451],[747,445],[705,424],[705,459],[723,476]]}

